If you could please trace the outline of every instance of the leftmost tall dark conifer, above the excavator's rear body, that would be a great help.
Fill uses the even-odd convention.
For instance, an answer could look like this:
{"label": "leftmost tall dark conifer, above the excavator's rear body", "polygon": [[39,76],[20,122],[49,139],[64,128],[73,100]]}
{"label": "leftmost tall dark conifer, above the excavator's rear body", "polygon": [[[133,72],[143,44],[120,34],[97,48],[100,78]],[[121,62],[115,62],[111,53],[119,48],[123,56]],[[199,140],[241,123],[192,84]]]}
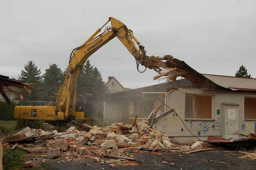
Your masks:
{"label": "leftmost tall dark conifer, above the excavator's rear body", "polygon": [[42,76],[41,69],[38,69],[35,62],[30,60],[24,65],[24,69],[21,70],[19,75],[19,80],[26,83],[35,83],[35,89],[31,90],[31,95],[28,95],[24,90],[22,95],[26,100],[38,100],[38,92],[41,90]]}

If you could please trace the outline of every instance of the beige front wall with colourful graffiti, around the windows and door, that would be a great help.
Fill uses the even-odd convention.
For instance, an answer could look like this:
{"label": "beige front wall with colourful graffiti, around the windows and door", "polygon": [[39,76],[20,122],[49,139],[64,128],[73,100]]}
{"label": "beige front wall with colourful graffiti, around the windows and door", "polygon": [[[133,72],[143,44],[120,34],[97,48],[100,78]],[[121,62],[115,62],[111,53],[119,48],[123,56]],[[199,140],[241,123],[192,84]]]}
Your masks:
{"label": "beige front wall with colourful graffiti, around the windows and door", "polygon": [[[185,94],[203,94],[213,95],[213,112],[212,120],[185,120]],[[225,131],[227,134],[233,130],[234,126],[238,126],[238,132],[242,134],[256,133],[256,120],[244,120],[244,97],[256,97],[253,93],[240,92],[204,92],[198,89],[179,89],[172,92],[167,104],[174,108],[179,114],[186,127],[196,136],[203,136],[206,138],[209,135],[223,136]],[[221,103],[236,103],[238,106],[237,120],[225,120],[222,115],[225,114]],[[220,109],[220,115],[217,115],[217,110]],[[169,109],[168,109],[169,110]],[[167,111],[168,111],[167,110]],[[166,119],[159,120],[156,124],[156,129],[165,131],[168,136],[192,136],[182,121],[175,113],[166,117]],[[225,127],[223,127],[225,124]]]}

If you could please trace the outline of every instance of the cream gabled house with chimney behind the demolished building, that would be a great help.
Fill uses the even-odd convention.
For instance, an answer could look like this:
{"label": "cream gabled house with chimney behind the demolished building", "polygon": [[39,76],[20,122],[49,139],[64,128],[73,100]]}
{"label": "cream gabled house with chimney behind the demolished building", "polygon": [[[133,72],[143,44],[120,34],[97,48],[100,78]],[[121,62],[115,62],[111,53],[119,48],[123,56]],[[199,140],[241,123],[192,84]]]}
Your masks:
{"label": "cream gabled house with chimney behind the demolished building", "polygon": [[110,93],[110,94],[130,90],[130,89],[122,86],[122,84],[119,83],[119,81],[117,81],[114,76],[108,77],[108,82],[106,82],[105,86],[108,87],[108,93]]}

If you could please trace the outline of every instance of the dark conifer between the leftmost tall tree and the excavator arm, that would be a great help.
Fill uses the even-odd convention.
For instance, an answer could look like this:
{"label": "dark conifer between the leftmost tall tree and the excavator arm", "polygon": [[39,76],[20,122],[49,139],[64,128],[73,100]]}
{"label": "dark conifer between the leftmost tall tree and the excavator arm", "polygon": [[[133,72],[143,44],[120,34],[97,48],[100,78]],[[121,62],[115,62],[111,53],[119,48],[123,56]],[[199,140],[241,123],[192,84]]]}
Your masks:
{"label": "dark conifer between the leftmost tall tree and the excavator arm", "polygon": [[60,85],[63,84],[63,72],[57,64],[49,64],[48,68],[45,69],[43,74],[44,93],[48,96],[58,93]]}

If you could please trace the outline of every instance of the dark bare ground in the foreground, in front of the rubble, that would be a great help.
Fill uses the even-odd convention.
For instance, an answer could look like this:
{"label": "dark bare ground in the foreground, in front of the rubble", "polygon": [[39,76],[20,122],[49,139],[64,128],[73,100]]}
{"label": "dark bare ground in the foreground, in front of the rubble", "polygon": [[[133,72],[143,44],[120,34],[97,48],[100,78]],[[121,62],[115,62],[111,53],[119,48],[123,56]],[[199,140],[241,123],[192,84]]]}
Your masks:
{"label": "dark bare ground in the foreground, in front of the rubble", "polygon": [[[192,154],[184,154],[181,152],[163,152],[162,154],[154,154],[152,152],[142,152],[134,154],[137,165],[117,165],[116,169],[255,169],[256,161],[248,158],[237,158],[243,156],[239,152],[225,151],[204,151]],[[30,155],[29,157],[37,157],[39,155]],[[102,158],[105,161],[109,158]],[[58,161],[65,161],[60,162]],[[113,159],[112,159],[113,160]],[[162,161],[168,162],[163,164]],[[120,161],[119,161],[120,162]],[[172,166],[170,163],[174,163]],[[87,166],[90,164],[91,166]],[[81,159],[79,161],[67,162],[65,156],[62,158],[51,159],[48,162],[41,163],[41,168],[36,166],[32,169],[45,170],[81,170],[81,169],[112,169],[109,163],[100,164],[93,162],[91,158]]]}

